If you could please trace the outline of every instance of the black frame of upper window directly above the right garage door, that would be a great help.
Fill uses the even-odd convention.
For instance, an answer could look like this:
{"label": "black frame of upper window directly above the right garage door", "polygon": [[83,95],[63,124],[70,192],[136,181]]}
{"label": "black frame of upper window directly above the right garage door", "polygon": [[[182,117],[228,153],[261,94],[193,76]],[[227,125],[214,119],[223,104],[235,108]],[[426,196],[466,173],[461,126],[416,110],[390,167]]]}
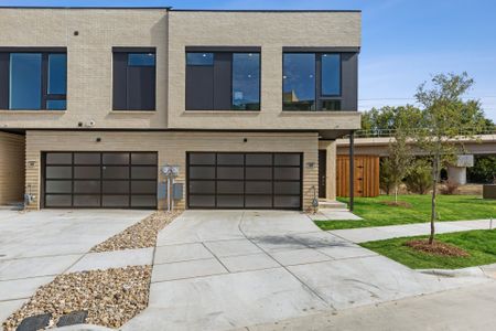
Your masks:
{"label": "black frame of upper window directly above the right garage door", "polygon": [[[213,63],[208,64],[208,65],[202,65],[202,64],[187,64],[187,54],[188,53],[212,53],[213,54]],[[219,53],[224,53],[224,54],[230,54],[230,87],[229,87],[229,109],[215,109],[215,105],[213,106],[212,109],[187,109],[186,104],[187,104],[187,95],[186,95],[186,88],[184,88],[184,100],[185,100],[185,105],[184,105],[184,109],[185,111],[202,111],[202,110],[206,110],[206,111],[236,111],[236,113],[249,113],[249,111],[260,111],[261,110],[261,103],[262,103],[262,98],[261,98],[261,66],[262,66],[262,53],[261,53],[261,47],[259,46],[186,46],[185,47],[185,52],[184,52],[184,61],[185,61],[185,65],[184,65],[184,82],[185,82],[185,86],[186,86],[186,82],[187,82],[187,66],[212,66],[213,70],[215,71],[215,56],[216,54]],[[233,102],[233,78],[234,78],[234,54],[258,54],[258,104],[259,107],[258,109],[236,109],[234,106],[234,102]],[[214,85],[215,87],[215,85]]]}

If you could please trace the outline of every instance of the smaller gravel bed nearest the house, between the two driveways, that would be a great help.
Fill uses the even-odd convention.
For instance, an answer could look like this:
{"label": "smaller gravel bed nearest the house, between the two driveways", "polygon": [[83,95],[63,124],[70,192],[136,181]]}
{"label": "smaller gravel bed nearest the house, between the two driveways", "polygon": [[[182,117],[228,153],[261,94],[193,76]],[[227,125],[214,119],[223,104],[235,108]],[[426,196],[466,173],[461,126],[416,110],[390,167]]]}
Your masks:
{"label": "smaller gravel bed nearest the house, between the two driveways", "polygon": [[120,249],[154,247],[157,235],[165,225],[172,222],[181,212],[159,211],[143,221],[129,226],[121,233],[93,247],[90,252],[110,252]]}

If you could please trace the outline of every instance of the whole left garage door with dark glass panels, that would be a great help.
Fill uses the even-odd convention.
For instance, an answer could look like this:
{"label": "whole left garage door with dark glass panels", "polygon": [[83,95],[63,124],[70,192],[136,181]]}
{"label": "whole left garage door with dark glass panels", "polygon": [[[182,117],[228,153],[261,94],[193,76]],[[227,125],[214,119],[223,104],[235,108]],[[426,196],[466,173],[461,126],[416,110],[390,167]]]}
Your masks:
{"label": "whole left garage door with dark glass panels", "polygon": [[154,152],[46,152],[45,207],[157,207]]}

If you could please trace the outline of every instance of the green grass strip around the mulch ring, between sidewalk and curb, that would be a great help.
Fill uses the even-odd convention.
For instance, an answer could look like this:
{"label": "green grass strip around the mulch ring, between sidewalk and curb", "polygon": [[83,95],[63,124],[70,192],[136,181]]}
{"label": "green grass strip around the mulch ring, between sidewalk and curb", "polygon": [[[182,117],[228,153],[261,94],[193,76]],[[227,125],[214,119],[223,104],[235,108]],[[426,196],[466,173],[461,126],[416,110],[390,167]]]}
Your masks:
{"label": "green grass strip around the mulch ring, between sidewalk and curb", "polygon": [[413,250],[403,245],[405,242],[412,238],[420,237],[393,238],[360,245],[413,269],[457,269],[496,263],[496,229],[475,229],[436,235],[436,241],[466,250],[470,254],[467,257],[444,257]]}

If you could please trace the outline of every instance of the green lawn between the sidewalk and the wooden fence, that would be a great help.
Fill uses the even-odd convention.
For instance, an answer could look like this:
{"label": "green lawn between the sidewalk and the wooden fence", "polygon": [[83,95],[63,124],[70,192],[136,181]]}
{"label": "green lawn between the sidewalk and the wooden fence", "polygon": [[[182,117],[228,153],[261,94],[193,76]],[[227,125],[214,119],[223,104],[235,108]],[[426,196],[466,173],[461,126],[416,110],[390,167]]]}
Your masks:
{"label": "green lawn between the sidewalk and the wooden fence", "polygon": [[[316,221],[322,229],[384,226],[408,223],[429,222],[431,215],[430,195],[400,195],[399,201],[411,204],[411,207],[388,206],[381,201],[393,201],[391,195],[377,197],[356,197],[354,213],[364,221]],[[347,202],[346,199],[339,199]],[[478,218],[496,218],[496,201],[483,200],[475,195],[439,195],[438,212],[440,221],[462,221]]]}

